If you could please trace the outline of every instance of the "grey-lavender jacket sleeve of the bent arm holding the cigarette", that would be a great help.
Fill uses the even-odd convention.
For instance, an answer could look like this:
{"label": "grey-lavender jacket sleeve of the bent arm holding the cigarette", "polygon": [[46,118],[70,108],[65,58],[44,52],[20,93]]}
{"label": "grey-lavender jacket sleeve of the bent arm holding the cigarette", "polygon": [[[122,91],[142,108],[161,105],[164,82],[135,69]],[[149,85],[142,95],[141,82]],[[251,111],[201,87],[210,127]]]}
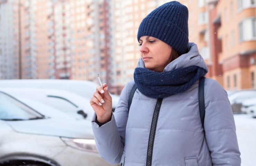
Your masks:
{"label": "grey-lavender jacket sleeve of the bent arm holding the cigarette", "polygon": [[121,92],[115,113],[106,124],[99,126],[92,118],[92,130],[100,156],[110,164],[120,163],[125,145],[125,130],[128,119],[128,97],[134,81],[129,82]]}

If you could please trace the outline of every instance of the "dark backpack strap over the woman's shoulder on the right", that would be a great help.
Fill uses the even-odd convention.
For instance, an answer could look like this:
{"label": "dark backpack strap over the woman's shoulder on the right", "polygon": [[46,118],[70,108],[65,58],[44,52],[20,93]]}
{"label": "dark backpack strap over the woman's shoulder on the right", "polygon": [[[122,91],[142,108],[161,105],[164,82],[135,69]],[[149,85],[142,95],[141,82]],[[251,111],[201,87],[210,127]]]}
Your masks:
{"label": "dark backpack strap over the woman's shoulder on the right", "polygon": [[200,112],[200,118],[201,118],[203,128],[204,128],[203,124],[204,124],[204,116],[205,116],[204,80],[205,80],[205,77],[200,78],[200,80],[199,80],[199,90],[198,90],[199,112]]}

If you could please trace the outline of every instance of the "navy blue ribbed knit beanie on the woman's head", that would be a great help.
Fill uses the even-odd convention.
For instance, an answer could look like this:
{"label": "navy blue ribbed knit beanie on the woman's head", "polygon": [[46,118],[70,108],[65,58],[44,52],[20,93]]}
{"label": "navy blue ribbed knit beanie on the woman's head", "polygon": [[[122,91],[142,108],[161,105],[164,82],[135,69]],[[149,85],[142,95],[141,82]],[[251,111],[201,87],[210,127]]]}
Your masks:
{"label": "navy blue ribbed knit beanie on the woman's head", "polygon": [[141,21],[137,39],[152,36],[172,46],[180,55],[185,54],[189,43],[188,18],[188,8],[180,2],[165,3]]}

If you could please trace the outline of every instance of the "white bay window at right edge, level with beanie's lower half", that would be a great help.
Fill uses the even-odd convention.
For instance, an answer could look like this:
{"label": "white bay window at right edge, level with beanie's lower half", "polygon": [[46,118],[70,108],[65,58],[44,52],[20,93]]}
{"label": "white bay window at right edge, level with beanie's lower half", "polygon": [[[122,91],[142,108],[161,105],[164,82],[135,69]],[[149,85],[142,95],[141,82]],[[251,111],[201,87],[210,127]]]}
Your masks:
{"label": "white bay window at right edge, level with beanie's lower half", "polygon": [[254,40],[256,38],[256,17],[246,18],[239,24],[239,40]]}

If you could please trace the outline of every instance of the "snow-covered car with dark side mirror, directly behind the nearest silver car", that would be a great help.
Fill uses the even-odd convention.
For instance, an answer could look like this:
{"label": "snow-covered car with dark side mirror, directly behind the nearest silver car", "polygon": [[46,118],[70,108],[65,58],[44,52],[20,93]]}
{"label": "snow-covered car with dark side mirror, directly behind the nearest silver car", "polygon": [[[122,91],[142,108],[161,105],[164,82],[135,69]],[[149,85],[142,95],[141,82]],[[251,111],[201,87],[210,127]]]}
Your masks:
{"label": "snow-covered car with dark side mirror, directly behind the nearest silver car", "polygon": [[70,91],[43,88],[0,88],[0,90],[19,100],[28,98],[42,102],[78,120],[91,121],[94,113],[88,99]]}

